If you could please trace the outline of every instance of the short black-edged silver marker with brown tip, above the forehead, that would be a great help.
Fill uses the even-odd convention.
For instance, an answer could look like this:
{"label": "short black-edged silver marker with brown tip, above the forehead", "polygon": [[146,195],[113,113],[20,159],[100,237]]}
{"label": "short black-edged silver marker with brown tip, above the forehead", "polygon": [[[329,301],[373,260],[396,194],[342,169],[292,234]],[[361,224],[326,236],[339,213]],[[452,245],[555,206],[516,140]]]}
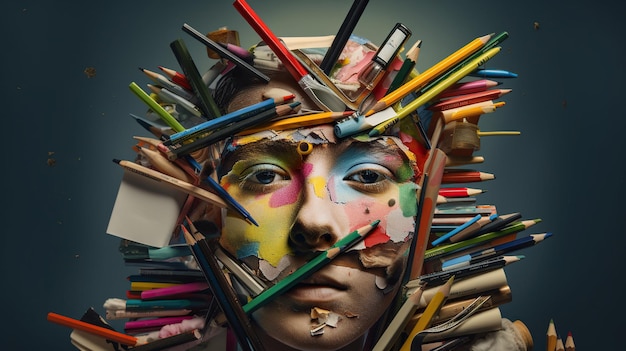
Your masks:
{"label": "short black-edged silver marker with brown tip, above the forehead", "polygon": [[404,24],[396,23],[372,60],[359,72],[359,83],[367,90],[374,89],[410,36],[411,31]]}

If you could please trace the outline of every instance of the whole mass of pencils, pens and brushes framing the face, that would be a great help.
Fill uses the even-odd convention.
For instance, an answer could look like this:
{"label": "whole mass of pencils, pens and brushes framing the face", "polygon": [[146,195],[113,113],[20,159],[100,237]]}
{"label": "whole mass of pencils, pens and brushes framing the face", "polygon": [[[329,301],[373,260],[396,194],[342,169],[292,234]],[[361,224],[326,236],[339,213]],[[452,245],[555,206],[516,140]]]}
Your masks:
{"label": "whole mass of pencils, pens and brushes framing the face", "polygon": [[[482,184],[495,179],[478,169],[484,160],[475,155],[481,138],[519,134],[478,127],[481,116],[504,107],[501,99],[512,92],[501,87],[502,80],[516,74],[486,68],[508,33],[476,37],[420,72],[422,41],[402,54],[411,31],[398,23],[380,45],[359,44],[368,59],[354,65],[342,54],[355,45],[346,33],[365,3],[355,1],[348,17],[352,22],[347,19],[337,36],[279,39],[245,1],[236,0],[235,9],[262,44],[243,49],[237,36],[233,42],[215,41],[184,24],[182,30],[206,46],[209,58],[217,57],[211,68],[199,72],[183,39],[170,43],[179,70],[159,66],[161,74],[140,68],[150,79],[149,92],[135,82],[129,88],[147,111],[132,117],[150,136],[135,136],[134,160],[114,160],[126,172],[107,229],[121,238],[125,264],[139,271],[128,277],[126,299],[104,304],[107,319],[126,320],[123,333],[49,315],[53,322],[96,336],[90,341],[82,335],[82,343],[89,345],[76,336],[79,349],[110,350],[102,340],[137,351],[191,347],[200,334],[210,339],[211,328],[221,327],[234,337],[229,349],[264,349],[251,315],[343,254],[379,221],[347,234],[270,285],[220,247],[218,230],[198,230],[199,223],[189,216],[202,207],[258,226],[215,179],[224,141],[320,124],[333,124],[338,139],[407,133],[419,144],[413,148],[422,170],[415,200],[419,211],[402,289],[379,328],[368,333],[365,347],[419,350],[430,344],[431,349],[453,350],[502,330],[499,306],[512,301],[505,267],[525,257],[518,251],[552,235],[521,235],[541,219],[499,213],[496,205],[480,200]],[[327,50],[320,55],[319,48]],[[290,84],[272,86],[281,74]],[[252,86],[265,88],[252,101],[237,98],[238,89]],[[310,145],[299,145],[298,152],[305,156]],[[172,202],[174,210],[157,226],[131,226],[146,202],[129,205],[135,196],[128,196],[130,191],[157,194],[153,199]],[[520,324],[521,338],[532,347],[532,337]],[[316,326],[311,335],[323,334],[323,328]]]}

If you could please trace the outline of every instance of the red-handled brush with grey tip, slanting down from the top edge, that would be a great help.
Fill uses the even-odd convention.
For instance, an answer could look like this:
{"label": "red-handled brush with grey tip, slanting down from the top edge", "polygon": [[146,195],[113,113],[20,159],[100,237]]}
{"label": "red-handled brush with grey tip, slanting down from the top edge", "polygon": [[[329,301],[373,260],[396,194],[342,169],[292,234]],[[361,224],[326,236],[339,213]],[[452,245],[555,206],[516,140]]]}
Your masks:
{"label": "red-handled brush with grey tip, slanting down from the top edge", "polygon": [[337,94],[309,74],[306,67],[280,42],[245,0],[235,0],[233,6],[274,51],[289,74],[319,108],[324,111],[345,111],[346,105]]}

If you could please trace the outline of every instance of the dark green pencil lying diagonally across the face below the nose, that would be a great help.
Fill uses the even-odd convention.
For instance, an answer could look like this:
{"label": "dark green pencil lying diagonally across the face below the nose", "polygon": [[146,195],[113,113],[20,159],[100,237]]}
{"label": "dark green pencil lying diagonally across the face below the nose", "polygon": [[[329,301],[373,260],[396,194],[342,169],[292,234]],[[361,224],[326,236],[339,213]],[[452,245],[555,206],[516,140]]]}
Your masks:
{"label": "dark green pencil lying diagonally across the face below the nose", "polygon": [[371,232],[379,223],[379,220],[376,220],[366,226],[356,229],[352,233],[346,235],[339,241],[337,241],[333,246],[331,246],[328,250],[320,253],[315,256],[312,260],[305,263],[302,267],[298,268],[295,272],[289,274],[282,280],[280,280],[275,285],[267,288],[265,291],[260,293],[257,297],[252,299],[250,302],[243,306],[243,310],[246,313],[252,313],[256,311],[261,306],[268,303],[274,297],[284,293],[289,290],[294,285],[298,284],[303,279],[306,279],[311,274],[318,271],[328,262],[330,262],[333,258],[337,257],[340,253],[345,252],[354,244],[359,242],[365,237],[369,232]]}

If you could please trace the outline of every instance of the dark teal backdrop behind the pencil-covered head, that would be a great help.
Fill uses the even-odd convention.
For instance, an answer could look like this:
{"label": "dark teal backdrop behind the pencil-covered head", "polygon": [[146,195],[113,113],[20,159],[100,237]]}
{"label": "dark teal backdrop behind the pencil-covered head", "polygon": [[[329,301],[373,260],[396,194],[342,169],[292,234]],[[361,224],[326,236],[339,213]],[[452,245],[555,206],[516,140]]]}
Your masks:
{"label": "dark teal backdrop behind the pencil-covered head", "polygon": [[[250,0],[278,36],[334,34],[348,0]],[[104,313],[123,297],[119,239],[106,234],[122,176],[113,158],[132,158],[133,135],[146,135],[129,113],[145,105],[128,85],[150,83],[138,70],[178,68],[169,43],[183,38],[198,68],[214,61],[181,30],[227,26],[249,46],[259,38],[231,1],[4,1],[2,14],[3,210],[2,349],[72,350],[69,329],[48,312],[79,318]],[[371,0],[355,34],[381,42],[396,22],[423,41],[425,70],[477,36],[508,31],[488,64],[519,74],[503,80],[506,106],[480,128],[519,130],[484,137],[480,170],[496,179],[477,187],[500,213],[543,221],[552,232],[506,269],[513,302],[504,317],[528,325],[536,349],[554,318],[579,350],[623,344],[626,12],[618,1]],[[533,23],[539,23],[535,29]],[[97,75],[87,78],[87,67]],[[56,159],[50,167],[47,159]],[[622,262],[622,263],[620,263]],[[119,325],[117,325],[119,326]]]}

